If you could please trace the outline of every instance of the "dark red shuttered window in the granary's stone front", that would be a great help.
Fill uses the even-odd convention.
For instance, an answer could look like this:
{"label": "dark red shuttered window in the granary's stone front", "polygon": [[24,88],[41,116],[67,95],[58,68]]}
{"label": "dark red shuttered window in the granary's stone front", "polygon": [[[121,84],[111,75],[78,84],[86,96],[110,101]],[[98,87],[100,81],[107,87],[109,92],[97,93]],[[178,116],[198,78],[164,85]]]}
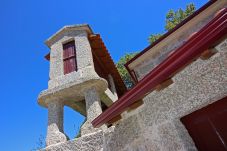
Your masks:
{"label": "dark red shuttered window in the granary's stone front", "polygon": [[63,45],[64,74],[77,71],[75,42]]}

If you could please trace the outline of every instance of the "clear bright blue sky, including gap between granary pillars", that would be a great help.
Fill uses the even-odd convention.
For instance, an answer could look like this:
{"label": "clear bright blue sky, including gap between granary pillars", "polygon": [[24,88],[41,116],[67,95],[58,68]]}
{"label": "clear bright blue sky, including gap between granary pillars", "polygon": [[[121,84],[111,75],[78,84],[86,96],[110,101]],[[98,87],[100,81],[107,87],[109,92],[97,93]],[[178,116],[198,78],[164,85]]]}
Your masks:
{"label": "clear bright blue sky, including gap between granary pillars", "polygon": [[[44,41],[64,25],[88,23],[100,33],[116,62],[148,46],[150,34],[164,31],[169,9],[197,8],[207,0],[1,0],[0,146],[28,151],[46,135],[47,110],[37,96],[47,88],[49,63]],[[83,117],[65,108],[65,132],[73,138]]]}

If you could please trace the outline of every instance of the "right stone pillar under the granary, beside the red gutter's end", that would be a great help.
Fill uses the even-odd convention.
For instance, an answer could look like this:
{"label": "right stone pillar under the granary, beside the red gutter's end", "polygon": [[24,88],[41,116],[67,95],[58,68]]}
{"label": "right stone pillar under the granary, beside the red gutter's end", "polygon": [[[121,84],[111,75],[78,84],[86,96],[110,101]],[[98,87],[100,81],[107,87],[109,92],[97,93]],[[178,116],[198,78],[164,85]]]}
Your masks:
{"label": "right stone pillar under the granary, beside the red gutter's end", "polygon": [[101,102],[98,92],[94,87],[84,91],[87,121],[81,127],[81,135],[89,134],[98,130],[106,129],[106,125],[94,128],[91,122],[102,113]]}

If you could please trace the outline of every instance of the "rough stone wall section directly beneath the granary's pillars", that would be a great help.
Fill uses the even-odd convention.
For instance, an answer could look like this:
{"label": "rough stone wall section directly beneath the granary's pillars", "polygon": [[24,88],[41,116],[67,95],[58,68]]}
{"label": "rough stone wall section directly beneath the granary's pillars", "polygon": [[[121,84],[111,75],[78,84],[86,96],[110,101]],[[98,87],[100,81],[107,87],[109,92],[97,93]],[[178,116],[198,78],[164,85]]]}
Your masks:
{"label": "rough stone wall section directly beneath the granary's pillars", "polygon": [[102,151],[103,132],[98,131],[65,143],[48,146],[40,151]]}

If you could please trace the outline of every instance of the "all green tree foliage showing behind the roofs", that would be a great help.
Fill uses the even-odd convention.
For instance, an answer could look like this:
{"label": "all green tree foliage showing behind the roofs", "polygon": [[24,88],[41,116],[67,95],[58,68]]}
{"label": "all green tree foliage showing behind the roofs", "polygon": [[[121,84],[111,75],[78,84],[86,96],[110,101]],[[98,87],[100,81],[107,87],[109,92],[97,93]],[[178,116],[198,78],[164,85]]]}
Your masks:
{"label": "all green tree foliage showing behind the roofs", "polygon": [[[188,4],[186,6],[186,9],[178,9],[176,11],[174,10],[169,10],[168,13],[166,14],[166,25],[165,25],[165,31],[169,31],[172,28],[174,28],[177,24],[182,22],[185,18],[190,16],[193,12],[195,12],[195,5],[193,3]],[[151,34],[148,38],[149,43],[152,44],[155,42],[157,39],[159,39],[163,34],[158,33],[158,34]],[[124,64],[129,61],[131,58],[133,58],[137,53],[128,53],[125,54],[123,57],[120,58],[120,60],[117,62],[116,66],[117,69],[126,85],[126,87],[129,89],[131,88],[134,84],[132,82],[131,76],[127,72],[127,70],[124,67]]]}

